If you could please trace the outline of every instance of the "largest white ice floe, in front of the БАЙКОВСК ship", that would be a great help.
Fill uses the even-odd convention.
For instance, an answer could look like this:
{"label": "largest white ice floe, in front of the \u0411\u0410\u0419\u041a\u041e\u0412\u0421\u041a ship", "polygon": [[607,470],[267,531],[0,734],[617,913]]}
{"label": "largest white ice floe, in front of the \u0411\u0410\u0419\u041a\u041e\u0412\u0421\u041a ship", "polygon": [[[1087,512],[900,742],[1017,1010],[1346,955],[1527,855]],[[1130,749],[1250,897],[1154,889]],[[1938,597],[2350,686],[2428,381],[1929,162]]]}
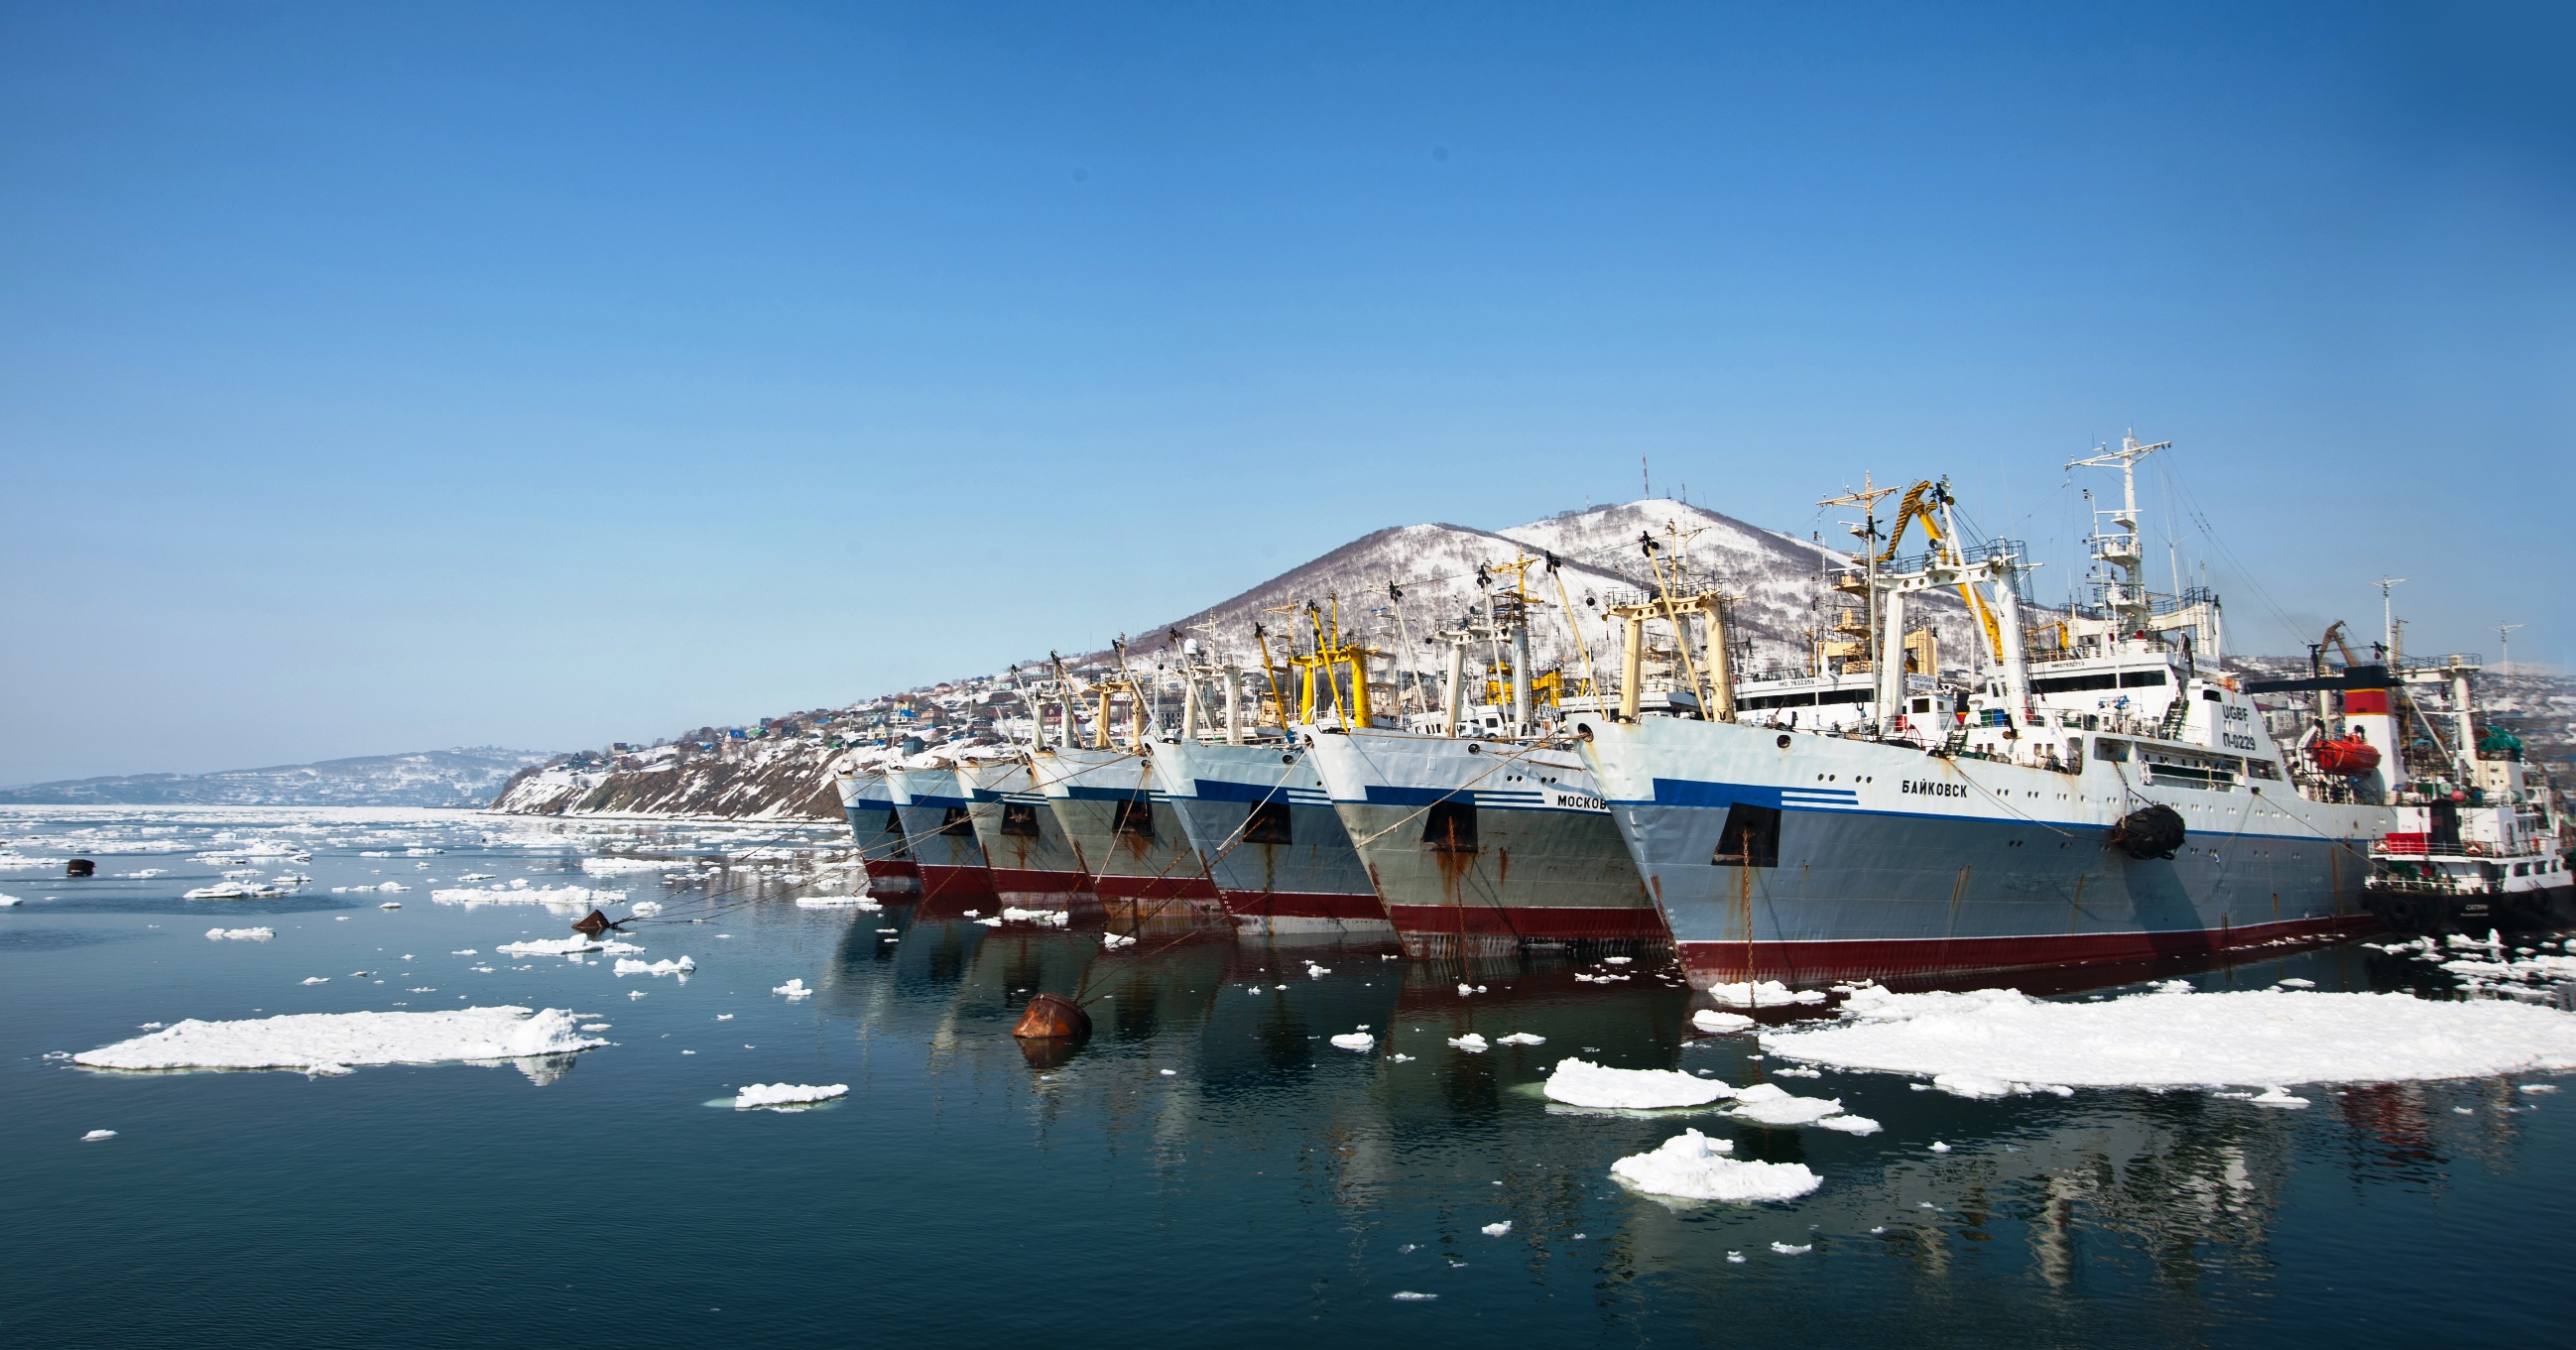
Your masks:
{"label": "largest white ice floe, in front of the \u0411\u0410\u0419\u041a\u041e\u0412\u0421\u041a ship", "polygon": [[2576,1015],[2504,1000],[2254,989],[2169,982],[2102,1002],[2014,989],[1891,994],[1860,987],[1839,1023],[1762,1036],[1811,1064],[1935,1074],[1955,1095],[2069,1087],[2275,1087],[2576,1069]]}

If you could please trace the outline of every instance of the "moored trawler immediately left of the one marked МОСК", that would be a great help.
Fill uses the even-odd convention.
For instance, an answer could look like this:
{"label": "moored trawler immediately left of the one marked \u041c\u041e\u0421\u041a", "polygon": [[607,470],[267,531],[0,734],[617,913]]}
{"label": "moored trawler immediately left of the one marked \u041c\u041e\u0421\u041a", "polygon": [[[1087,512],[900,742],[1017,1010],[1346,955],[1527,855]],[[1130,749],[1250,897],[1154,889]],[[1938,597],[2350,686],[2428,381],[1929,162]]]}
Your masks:
{"label": "moored trawler immediately left of the one marked \u041c\u041e\u0421\u041a", "polygon": [[[1324,778],[1280,729],[1280,690],[1260,701],[1267,716],[1247,727],[1242,670],[1216,665],[1195,639],[1177,654],[1182,724],[1154,745],[1154,788],[1180,817],[1234,925],[1267,935],[1388,933]],[[1203,737],[1218,716],[1224,739]]]}

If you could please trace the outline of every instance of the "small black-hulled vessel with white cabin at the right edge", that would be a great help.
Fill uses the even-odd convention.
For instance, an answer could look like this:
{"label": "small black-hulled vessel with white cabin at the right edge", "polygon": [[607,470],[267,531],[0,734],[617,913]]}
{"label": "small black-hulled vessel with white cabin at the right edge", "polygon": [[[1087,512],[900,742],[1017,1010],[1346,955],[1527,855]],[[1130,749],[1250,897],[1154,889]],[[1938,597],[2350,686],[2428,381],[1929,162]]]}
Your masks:
{"label": "small black-hulled vessel with white cabin at the right edge", "polygon": [[2543,927],[2576,899],[2548,773],[2504,727],[2476,729],[2478,670],[2478,657],[2437,657],[2393,690],[2416,734],[2396,827],[2370,848],[2365,904],[2398,933]]}

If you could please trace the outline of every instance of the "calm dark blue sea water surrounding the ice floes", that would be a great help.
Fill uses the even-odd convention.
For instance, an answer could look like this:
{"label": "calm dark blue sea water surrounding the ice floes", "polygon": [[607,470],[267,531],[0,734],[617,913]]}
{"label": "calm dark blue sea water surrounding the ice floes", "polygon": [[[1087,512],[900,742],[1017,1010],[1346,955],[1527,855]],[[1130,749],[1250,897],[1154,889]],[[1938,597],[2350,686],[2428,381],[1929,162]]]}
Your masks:
{"label": "calm dark blue sea water surrounding the ice floes", "polygon": [[[1651,961],[1419,966],[1378,943],[1151,933],[1105,951],[1079,925],[796,907],[845,876],[814,871],[845,842],[822,827],[59,809],[5,814],[0,835],[0,894],[23,899],[0,909],[8,1345],[2566,1335],[2576,1095],[2522,1092],[2548,1074],[2311,1085],[2306,1110],[1808,1077],[1752,1036],[1695,1031],[1708,1000]],[[276,842],[312,860],[222,860]],[[603,848],[647,863],[585,873]],[[67,850],[98,879],[62,879]],[[312,884],[178,899],[245,866]],[[621,940],[693,969],[505,956],[577,915],[433,899],[520,879],[662,902]],[[350,889],[384,881],[407,889]],[[2192,984],[2280,979],[2458,997],[2437,966],[2362,946]],[[791,982],[811,994],[775,992]],[[1092,1036],[1012,1041],[1033,989],[1087,1000]],[[580,1012],[611,1043],[345,1074],[62,1059],[183,1018],[497,1005]],[[1332,1043],[1360,1028],[1368,1051]],[[1486,1051],[1450,1043],[1468,1033]],[[1723,1100],[1548,1103],[1569,1056],[1777,1082],[1880,1131],[1765,1128]],[[747,1085],[848,1095],[742,1110]],[[1821,1185],[1736,1206],[1610,1177],[1685,1128]]]}

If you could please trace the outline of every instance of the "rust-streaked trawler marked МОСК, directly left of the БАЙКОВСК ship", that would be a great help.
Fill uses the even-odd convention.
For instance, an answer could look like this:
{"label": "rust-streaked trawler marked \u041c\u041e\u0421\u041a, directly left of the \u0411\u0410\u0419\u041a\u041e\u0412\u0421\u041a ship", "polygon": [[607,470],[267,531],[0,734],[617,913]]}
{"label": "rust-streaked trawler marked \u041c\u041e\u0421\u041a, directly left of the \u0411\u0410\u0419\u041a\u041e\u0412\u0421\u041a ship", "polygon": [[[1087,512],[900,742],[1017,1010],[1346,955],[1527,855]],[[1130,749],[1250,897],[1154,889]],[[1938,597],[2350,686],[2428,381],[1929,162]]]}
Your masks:
{"label": "rust-streaked trawler marked \u041c\u041e\u0421\u041a, directly left of the \u0411\u0410\u0419\u041a\u041e\u0412\u0421\u041a ship", "polygon": [[[1381,711],[1399,721],[1401,711],[1376,706],[1376,652],[1347,642],[1334,618],[1316,623],[1314,652],[1298,660],[1298,742],[1414,958],[1669,940],[1589,768],[1540,724],[1525,585],[1535,562],[1504,567],[1510,593],[1479,577],[1479,611],[1437,636],[1450,649],[1445,706],[1414,714],[1412,729],[1381,727]],[[1468,703],[1476,647],[1499,660],[1489,698]],[[1507,703],[1494,698],[1504,685]]]}

